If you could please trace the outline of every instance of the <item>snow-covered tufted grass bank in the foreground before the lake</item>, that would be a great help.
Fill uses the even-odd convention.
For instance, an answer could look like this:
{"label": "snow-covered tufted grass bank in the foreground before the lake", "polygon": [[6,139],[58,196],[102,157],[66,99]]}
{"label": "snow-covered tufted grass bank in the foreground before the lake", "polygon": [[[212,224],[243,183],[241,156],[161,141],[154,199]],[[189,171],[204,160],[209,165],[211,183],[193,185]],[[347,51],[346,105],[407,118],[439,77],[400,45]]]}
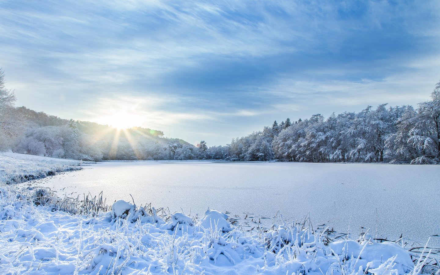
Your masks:
{"label": "snow-covered tufted grass bank in the foreground before the lake", "polygon": [[[4,165],[9,156],[0,158]],[[249,232],[215,210],[193,219],[124,201],[80,216],[59,210],[68,202],[38,188],[1,187],[0,273],[417,274],[421,267],[414,270],[399,244],[372,234],[331,241],[308,224],[283,222]]]}

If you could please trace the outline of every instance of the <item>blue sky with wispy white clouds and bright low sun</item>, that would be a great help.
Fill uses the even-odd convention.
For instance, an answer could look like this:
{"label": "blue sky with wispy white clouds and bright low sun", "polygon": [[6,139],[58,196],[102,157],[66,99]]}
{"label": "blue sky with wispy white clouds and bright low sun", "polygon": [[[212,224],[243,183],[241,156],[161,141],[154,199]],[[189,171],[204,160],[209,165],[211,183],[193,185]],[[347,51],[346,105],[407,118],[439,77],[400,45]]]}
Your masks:
{"label": "blue sky with wispy white clouds and bright low sun", "polygon": [[224,145],[429,100],[440,1],[0,0],[0,67],[16,106]]}

